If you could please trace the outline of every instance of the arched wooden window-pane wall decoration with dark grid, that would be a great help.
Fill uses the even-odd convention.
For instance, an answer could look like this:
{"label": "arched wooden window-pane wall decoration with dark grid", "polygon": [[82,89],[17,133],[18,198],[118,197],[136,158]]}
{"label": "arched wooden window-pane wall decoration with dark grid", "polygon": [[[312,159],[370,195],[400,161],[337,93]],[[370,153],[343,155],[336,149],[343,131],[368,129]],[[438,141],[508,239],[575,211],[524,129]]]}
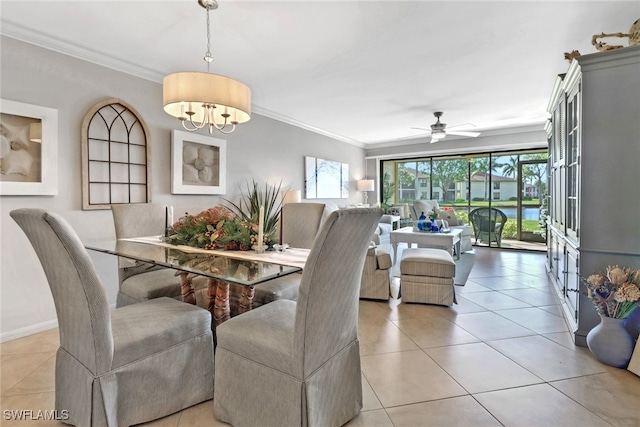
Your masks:
{"label": "arched wooden window-pane wall decoration with dark grid", "polygon": [[94,105],[82,122],[82,208],[151,201],[149,130],[120,99]]}

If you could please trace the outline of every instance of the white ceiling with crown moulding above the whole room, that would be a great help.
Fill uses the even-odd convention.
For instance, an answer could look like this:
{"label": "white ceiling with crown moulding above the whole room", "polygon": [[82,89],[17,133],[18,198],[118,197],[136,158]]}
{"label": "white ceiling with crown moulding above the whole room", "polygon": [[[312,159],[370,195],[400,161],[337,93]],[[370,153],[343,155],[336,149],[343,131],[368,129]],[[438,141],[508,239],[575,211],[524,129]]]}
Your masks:
{"label": "white ceiling with crown moulding above the whole room", "polygon": [[[434,111],[457,130],[542,129],[564,52],[640,18],[637,0],[218,2],[211,72],[247,84],[256,113],[365,147],[424,141],[411,128]],[[206,71],[197,0],[1,0],[0,15],[4,35],[153,81]]]}

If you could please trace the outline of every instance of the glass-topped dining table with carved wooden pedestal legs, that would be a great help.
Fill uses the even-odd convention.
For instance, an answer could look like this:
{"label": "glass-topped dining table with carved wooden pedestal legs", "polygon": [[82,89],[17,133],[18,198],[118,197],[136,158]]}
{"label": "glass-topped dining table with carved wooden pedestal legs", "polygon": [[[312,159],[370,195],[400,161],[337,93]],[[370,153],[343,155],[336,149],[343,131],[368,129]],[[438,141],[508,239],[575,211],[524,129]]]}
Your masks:
{"label": "glass-topped dining table with carved wooden pedestal legs", "polygon": [[176,270],[180,276],[182,300],[196,304],[193,278],[209,278],[207,309],[211,312],[213,326],[231,317],[229,285],[242,286],[238,312],[251,309],[254,286],[302,271],[309,249],[288,248],[282,252],[205,250],[189,246],[176,246],[161,236],[145,236],[127,239],[86,240],[85,248],[116,255],[132,267],[144,264]]}

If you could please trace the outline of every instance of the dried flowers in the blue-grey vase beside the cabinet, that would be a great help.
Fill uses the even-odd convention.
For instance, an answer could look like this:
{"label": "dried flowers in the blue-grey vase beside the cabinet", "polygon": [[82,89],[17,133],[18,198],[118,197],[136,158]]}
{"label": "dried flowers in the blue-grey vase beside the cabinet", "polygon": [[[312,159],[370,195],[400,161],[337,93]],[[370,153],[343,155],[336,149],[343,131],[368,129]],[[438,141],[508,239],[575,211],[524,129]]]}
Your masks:
{"label": "dried flowers in the blue-grey vase beside the cabinet", "polygon": [[625,319],[638,307],[640,270],[609,266],[589,276],[586,284],[587,296],[601,316]]}

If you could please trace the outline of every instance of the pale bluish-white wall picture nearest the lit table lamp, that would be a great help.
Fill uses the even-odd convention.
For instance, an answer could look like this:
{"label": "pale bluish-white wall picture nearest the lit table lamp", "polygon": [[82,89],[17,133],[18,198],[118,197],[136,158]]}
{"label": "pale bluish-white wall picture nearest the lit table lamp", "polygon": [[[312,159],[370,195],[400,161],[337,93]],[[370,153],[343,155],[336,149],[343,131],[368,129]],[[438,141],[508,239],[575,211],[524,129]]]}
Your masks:
{"label": "pale bluish-white wall picture nearest the lit table lamp", "polygon": [[305,156],[305,198],[349,197],[349,164]]}

